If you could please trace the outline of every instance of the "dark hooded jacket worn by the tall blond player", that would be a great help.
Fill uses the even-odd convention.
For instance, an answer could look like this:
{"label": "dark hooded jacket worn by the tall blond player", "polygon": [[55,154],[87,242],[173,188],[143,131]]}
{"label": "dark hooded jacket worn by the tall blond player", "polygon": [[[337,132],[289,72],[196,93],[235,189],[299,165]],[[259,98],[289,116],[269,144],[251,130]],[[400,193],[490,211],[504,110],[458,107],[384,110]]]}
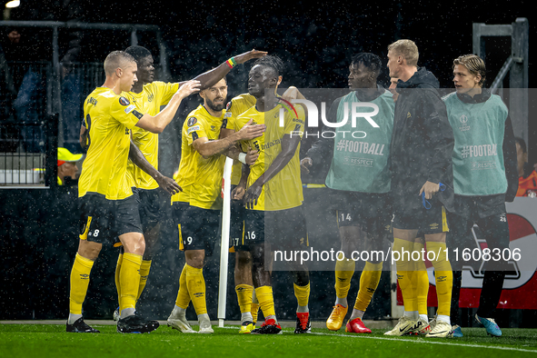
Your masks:
{"label": "dark hooded jacket worn by the tall blond player", "polygon": [[[390,147],[394,204],[420,207],[418,194],[425,182],[442,183],[446,190],[434,197],[453,210],[453,132],[438,93],[439,82],[424,67],[406,82],[399,80]],[[433,203],[433,202],[432,202]]]}

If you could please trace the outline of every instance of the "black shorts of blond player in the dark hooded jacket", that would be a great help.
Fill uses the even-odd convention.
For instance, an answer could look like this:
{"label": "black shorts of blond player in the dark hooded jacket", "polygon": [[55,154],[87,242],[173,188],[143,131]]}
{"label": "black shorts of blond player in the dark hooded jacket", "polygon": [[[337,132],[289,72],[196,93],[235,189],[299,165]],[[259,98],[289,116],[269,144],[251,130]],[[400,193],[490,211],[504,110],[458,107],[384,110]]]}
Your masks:
{"label": "black shorts of blond player in the dark hooded jacket", "polygon": [[[415,197],[414,197],[415,196]],[[430,209],[423,205],[415,205],[415,201],[422,202],[420,195],[407,198],[409,207],[394,205],[392,225],[394,229],[418,230],[420,234],[440,234],[449,232],[448,220],[445,207],[436,196],[428,200]],[[404,201],[401,201],[403,203]]]}

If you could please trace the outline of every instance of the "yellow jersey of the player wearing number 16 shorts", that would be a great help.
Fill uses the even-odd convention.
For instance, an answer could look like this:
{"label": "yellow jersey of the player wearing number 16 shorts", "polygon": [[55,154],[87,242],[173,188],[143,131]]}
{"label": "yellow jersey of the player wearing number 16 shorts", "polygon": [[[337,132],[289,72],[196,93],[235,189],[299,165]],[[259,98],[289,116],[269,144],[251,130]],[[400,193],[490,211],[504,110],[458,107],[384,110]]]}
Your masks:
{"label": "yellow jersey of the player wearing number 16 shorts", "polygon": [[[284,125],[280,126],[280,109],[283,108]],[[244,114],[240,114],[235,121],[235,130],[244,126],[250,119],[254,124],[265,124],[264,134],[258,138],[243,142],[244,148],[250,146],[259,151],[259,158],[250,167],[248,184],[254,184],[264,171],[270,167],[273,160],[282,152],[282,139],[285,134],[300,135],[302,138],[305,114],[301,105],[295,105],[293,110],[284,109],[282,104],[276,105],[268,112],[258,112],[255,106]],[[297,115],[298,114],[298,115]],[[254,210],[277,211],[291,209],[302,205],[303,191],[300,179],[300,144],[296,147],[293,158],[283,169],[273,176],[263,186]]]}

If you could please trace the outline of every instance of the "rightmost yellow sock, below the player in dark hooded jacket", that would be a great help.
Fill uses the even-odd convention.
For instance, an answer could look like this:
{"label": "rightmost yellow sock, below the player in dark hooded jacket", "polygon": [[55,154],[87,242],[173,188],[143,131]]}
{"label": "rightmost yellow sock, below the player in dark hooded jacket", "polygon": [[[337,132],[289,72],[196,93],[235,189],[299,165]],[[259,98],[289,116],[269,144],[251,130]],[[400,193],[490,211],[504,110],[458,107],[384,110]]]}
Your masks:
{"label": "rightmost yellow sock, below the player in dark hooded jacket", "polygon": [[427,258],[433,257],[433,254],[429,254],[429,252],[434,252],[435,258],[431,264],[434,266],[436,278],[436,296],[438,298],[436,314],[449,316],[452,304],[453,273],[452,264],[448,261],[445,250],[445,243],[427,242]]}

